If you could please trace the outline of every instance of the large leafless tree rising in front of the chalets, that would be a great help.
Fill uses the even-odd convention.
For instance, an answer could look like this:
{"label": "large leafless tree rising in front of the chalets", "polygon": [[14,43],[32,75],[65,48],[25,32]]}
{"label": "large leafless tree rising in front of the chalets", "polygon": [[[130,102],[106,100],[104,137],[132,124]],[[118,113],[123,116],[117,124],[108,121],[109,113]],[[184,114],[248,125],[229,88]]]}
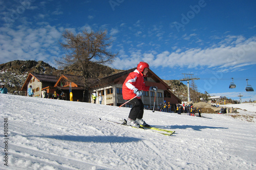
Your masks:
{"label": "large leafless tree rising in front of the chalets", "polygon": [[60,44],[68,54],[56,62],[61,68],[69,67],[81,72],[81,82],[86,89],[85,100],[88,102],[89,87],[98,83],[98,76],[105,69],[103,65],[111,64],[117,55],[109,51],[112,41],[106,36],[106,30],[90,33],[85,30],[77,35],[66,30],[62,36],[66,42]]}

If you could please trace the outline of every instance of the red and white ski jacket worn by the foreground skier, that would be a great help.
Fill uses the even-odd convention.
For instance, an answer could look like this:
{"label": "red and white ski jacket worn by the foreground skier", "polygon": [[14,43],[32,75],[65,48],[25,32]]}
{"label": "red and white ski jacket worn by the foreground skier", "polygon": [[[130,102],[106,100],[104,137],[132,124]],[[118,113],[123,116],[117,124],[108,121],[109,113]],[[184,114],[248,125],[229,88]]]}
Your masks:
{"label": "red and white ski jacket worn by the foreground skier", "polygon": [[[142,72],[139,70],[134,70],[127,76],[123,83],[123,89],[122,89],[122,94],[123,94],[123,99],[124,100],[130,100],[136,96],[136,94],[133,92],[135,88],[138,90],[143,90],[143,91],[149,91],[150,86],[146,86],[144,82]],[[140,99],[140,97],[137,97]]]}

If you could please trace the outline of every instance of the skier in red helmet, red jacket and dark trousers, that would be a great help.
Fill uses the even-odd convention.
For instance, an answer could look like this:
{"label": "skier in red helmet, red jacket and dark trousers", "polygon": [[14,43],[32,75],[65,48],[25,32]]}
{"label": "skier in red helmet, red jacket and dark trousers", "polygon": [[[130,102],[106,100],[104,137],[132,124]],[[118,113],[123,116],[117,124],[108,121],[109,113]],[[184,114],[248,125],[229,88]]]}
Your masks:
{"label": "skier in red helmet, red jacket and dark trousers", "polygon": [[122,87],[124,100],[131,100],[134,98],[130,101],[132,108],[128,116],[127,125],[136,128],[139,128],[140,125],[150,127],[150,125],[147,125],[142,119],[144,113],[144,104],[140,99],[140,96],[143,94],[140,90],[157,91],[156,86],[150,87],[145,85],[144,77],[146,76],[149,68],[150,66],[146,62],[140,62],[137,65],[137,69],[127,76]]}

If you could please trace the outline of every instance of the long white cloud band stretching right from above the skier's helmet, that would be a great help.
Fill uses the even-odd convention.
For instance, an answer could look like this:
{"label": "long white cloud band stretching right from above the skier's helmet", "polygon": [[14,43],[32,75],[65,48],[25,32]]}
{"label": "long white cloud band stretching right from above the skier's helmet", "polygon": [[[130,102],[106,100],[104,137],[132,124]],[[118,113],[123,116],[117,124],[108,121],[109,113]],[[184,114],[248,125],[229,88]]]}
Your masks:
{"label": "long white cloud band stretching right from above the skier's helmet", "polygon": [[[189,36],[196,36],[196,34]],[[227,72],[256,64],[256,37],[245,39],[243,36],[227,36],[219,44],[203,49],[187,48],[182,50],[177,46],[173,46],[173,50],[176,50],[175,52],[164,51],[158,54],[142,53],[141,51],[136,52],[136,49],[133,50],[130,57],[135,61],[152,62],[154,60],[151,63],[153,67],[218,67],[220,68],[219,71]],[[149,58],[147,59],[147,57]]]}

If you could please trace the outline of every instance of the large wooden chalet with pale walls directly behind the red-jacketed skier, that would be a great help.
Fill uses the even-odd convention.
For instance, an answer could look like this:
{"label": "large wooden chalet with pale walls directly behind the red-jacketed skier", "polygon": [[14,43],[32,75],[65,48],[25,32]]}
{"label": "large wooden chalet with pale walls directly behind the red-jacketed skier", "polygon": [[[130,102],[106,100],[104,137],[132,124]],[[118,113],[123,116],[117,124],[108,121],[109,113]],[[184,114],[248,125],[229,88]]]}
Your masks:
{"label": "large wooden chalet with pale walls directly behind the red-jacketed skier", "polygon": [[[132,68],[129,70],[125,70],[119,72],[117,74],[104,77],[101,79],[101,83],[97,86],[90,88],[90,96],[92,92],[96,91],[97,96],[99,93],[102,95],[102,103],[104,105],[114,105],[121,106],[126,101],[123,100],[122,97],[122,85],[126,79],[126,77],[130,74],[130,72],[134,71],[136,68]],[[158,91],[156,95],[156,105],[158,106],[163,101],[167,103],[170,102],[172,104],[172,108],[175,108],[175,104],[181,104],[181,100],[177,98],[170,91],[170,87],[162,81],[151,69],[148,69],[147,76],[144,78],[145,84],[147,86],[157,86]],[[155,92],[154,91],[143,91],[142,102],[144,103],[145,108],[153,108],[154,105]],[[90,97],[92,101],[92,98]],[[99,103],[98,98],[96,103]],[[131,104],[126,104],[125,107],[131,107]]]}

